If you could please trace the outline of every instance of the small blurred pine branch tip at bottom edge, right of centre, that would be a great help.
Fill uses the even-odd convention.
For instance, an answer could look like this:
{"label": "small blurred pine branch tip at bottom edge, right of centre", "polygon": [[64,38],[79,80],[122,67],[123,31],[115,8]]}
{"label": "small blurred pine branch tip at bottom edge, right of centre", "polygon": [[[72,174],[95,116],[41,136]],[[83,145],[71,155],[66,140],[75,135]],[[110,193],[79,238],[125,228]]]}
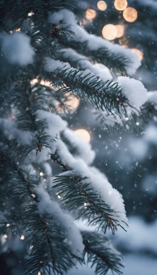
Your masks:
{"label": "small blurred pine branch tip at bottom edge, right of centre", "polygon": [[91,267],[95,266],[95,274],[105,275],[109,270],[112,274],[122,274],[122,255],[104,234],[88,231],[82,231],[81,234],[85,245],[84,258],[87,254],[87,263],[91,262]]}

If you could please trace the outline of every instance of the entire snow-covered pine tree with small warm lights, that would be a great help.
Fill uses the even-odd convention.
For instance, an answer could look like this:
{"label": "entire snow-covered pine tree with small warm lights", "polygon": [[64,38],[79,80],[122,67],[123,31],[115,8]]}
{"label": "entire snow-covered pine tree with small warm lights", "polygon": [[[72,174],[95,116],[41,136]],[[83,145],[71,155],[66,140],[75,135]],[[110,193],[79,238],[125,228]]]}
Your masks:
{"label": "entire snow-covered pine tree with small warm lights", "polygon": [[[76,1],[0,7],[1,242],[23,239],[25,275],[66,274],[77,261],[91,262],[96,274],[121,274],[122,256],[104,233],[127,228],[122,196],[91,166],[95,152],[60,111],[66,114],[75,96],[109,126],[146,123],[156,109],[143,84],[128,77],[140,61],[78,25]],[[62,172],[52,182],[54,163]]]}

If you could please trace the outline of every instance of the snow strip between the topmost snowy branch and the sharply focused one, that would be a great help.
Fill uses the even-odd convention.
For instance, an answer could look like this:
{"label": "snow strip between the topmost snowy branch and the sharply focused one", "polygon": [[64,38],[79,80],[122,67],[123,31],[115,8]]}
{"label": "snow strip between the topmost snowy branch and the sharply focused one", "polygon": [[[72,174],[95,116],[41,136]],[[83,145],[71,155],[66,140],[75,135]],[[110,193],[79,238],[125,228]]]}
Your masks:
{"label": "snow strip between the topmost snowy branch and the sharply focused one", "polygon": [[63,53],[63,57],[65,58],[65,60],[69,59],[69,63],[70,61],[75,62],[81,70],[89,69],[90,72],[99,76],[104,81],[112,79],[110,70],[103,64],[93,64],[88,60],[88,58],[86,58],[82,54],[79,54],[71,48],[63,48],[60,52]]}

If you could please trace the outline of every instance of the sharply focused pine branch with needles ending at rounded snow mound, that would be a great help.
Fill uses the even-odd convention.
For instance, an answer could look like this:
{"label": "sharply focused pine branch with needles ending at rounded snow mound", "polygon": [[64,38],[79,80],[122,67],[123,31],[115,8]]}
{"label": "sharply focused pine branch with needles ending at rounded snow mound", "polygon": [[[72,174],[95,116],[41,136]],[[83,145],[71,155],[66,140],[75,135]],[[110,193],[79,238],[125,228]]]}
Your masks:
{"label": "sharply focused pine branch with needles ending at rounded snow mound", "polygon": [[[122,94],[122,88],[117,82],[107,80],[104,82],[98,76],[77,69],[57,69],[53,84],[58,88],[57,92],[72,92],[74,96],[91,102],[98,109],[111,112],[112,109],[120,116],[126,113],[126,107],[131,106],[127,98]],[[58,81],[57,81],[58,80]],[[63,84],[65,83],[65,85]]]}

